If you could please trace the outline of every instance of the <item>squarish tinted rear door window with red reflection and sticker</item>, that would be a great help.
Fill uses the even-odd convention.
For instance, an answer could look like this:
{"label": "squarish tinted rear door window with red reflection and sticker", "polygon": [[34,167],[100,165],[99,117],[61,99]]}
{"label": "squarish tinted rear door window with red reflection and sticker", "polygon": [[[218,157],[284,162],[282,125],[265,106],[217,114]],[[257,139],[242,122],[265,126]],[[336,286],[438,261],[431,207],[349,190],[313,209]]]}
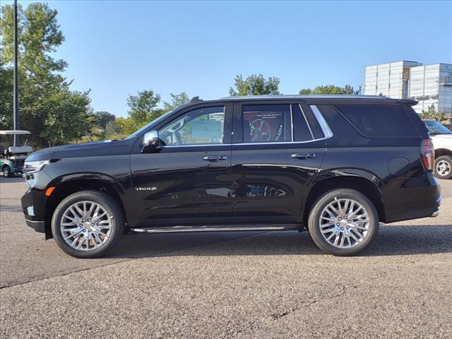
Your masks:
{"label": "squarish tinted rear door window with red reflection and sticker", "polygon": [[289,105],[244,105],[242,121],[244,143],[292,141]]}

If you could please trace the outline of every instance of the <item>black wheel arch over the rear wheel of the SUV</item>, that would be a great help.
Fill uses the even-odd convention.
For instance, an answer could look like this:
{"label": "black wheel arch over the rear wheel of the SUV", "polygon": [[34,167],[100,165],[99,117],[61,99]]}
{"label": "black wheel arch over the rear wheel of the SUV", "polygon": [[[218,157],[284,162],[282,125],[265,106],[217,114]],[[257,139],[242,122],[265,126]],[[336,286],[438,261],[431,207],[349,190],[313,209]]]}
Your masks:
{"label": "black wheel arch over the rear wheel of the SUV", "polygon": [[367,196],[379,213],[379,220],[386,222],[386,213],[384,210],[381,190],[378,186],[378,179],[369,173],[363,176],[358,175],[333,175],[325,177],[316,182],[307,194],[306,203],[304,204],[303,222],[306,223],[309,218],[314,202],[326,191],[331,189],[346,188],[355,189]]}

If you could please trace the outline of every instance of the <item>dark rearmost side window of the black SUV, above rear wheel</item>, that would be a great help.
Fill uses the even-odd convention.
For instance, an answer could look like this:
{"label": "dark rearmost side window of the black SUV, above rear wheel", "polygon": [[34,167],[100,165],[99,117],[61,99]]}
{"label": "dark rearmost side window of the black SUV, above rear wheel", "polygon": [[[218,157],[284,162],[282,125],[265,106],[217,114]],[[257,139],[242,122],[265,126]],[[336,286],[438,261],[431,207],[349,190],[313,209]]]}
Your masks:
{"label": "dark rearmost side window of the black SUV, above rear wheel", "polygon": [[418,136],[415,125],[401,106],[335,105],[364,136]]}

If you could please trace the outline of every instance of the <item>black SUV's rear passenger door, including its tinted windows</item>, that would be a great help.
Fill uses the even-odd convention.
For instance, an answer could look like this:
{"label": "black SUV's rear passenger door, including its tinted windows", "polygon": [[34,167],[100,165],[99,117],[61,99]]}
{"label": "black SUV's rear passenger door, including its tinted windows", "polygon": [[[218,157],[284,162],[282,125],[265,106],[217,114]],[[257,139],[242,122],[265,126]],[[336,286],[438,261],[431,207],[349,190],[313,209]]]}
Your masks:
{"label": "black SUV's rear passenger door, including its tinted windows", "polygon": [[302,103],[235,103],[231,160],[234,221],[301,222],[307,186],[326,152],[325,139],[313,112]]}

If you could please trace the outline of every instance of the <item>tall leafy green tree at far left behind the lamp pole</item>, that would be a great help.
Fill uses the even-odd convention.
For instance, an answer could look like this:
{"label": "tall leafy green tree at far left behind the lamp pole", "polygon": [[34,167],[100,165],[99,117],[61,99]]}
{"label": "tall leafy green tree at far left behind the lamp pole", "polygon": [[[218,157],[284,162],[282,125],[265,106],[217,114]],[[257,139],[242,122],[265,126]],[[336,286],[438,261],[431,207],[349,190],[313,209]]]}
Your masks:
{"label": "tall leafy green tree at far left behind the lamp pole", "polygon": [[[1,7],[0,35],[0,121],[2,128],[12,128],[11,5]],[[57,11],[42,3],[32,3],[26,8],[18,6],[20,128],[30,130],[30,141],[40,146],[65,143],[88,133],[94,123],[93,119],[88,119],[88,92],[71,91],[71,82],[61,75],[67,67],[66,61],[53,57],[63,41],[64,35],[57,23]]]}

